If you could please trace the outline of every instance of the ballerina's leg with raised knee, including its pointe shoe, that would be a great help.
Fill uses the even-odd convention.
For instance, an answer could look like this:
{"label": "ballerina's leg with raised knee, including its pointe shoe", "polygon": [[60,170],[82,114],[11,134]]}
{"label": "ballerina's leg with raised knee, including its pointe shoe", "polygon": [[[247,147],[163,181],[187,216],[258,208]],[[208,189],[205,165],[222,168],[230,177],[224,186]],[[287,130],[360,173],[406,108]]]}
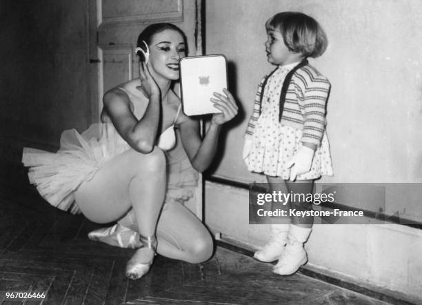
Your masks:
{"label": "ballerina's leg with raised knee, including its pointe shoe", "polygon": [[[139,233],[145,237],[142,242],[147,246],[137,250],[128,262],[131,278],[146,273],[154,257],[155,229],[164,195],[165,157],[159,148],[149,154],[128,150],[114,157],[75,192],[79,208],[92,222],[113,222],[133,208]],[[145,266],[130,268],[137,264]]]}

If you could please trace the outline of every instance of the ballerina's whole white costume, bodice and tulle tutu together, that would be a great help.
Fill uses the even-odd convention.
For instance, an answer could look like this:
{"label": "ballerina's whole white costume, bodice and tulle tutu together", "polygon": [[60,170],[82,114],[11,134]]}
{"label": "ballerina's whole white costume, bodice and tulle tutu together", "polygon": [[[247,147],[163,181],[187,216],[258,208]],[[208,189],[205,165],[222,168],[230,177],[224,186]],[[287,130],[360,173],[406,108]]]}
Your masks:
{"label": "ballerina's whole white costume, bodice and tulle tutu together", "polygon": [[[134,105],[134,115],[138,119],[141,117],[137,105]],[[183,148],[179,145],[179,148],[172,150],[176,141],[174,124],[177,116],[173,125],[161,134],[163,137],[157,142],[165,151],[167,159],[167,204],[183,202],[192,197],[198,179],[198,173],[192,168]],[[57,153],[23,148],[22,162],[29,167],[30,183],[37,186],[44,199],[52,206],[75,214],[80,213],[80,210],[74,202],[74,191],[83,181],[92,179],[103,164],[129,149],[132,148],[113,124],[100,123],[92,124],[81,134],[75,129],[62,132]]]}

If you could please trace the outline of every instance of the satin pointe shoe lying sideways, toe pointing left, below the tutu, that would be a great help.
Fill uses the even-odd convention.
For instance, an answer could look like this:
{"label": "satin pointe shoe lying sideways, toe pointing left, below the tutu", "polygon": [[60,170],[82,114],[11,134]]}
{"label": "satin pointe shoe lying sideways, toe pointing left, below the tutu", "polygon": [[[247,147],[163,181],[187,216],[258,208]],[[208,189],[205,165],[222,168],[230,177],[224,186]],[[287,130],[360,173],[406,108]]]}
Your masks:
{"label": "satin pointe shoe lying sideways, toe pointing left, below the tutu", "polygon": [[142,246],[141,242],[139,242],[139,233],[121,224],[93,230],[88,233],[88,239],[120,248],[137,249]]}

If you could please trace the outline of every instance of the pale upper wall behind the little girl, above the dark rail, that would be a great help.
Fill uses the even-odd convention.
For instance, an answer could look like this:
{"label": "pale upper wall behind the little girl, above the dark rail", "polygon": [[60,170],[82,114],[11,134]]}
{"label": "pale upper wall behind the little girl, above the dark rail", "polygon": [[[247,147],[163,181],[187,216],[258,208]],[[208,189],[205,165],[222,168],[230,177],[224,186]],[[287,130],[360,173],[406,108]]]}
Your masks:
{"label": "pale upper wall behind the little girl, above the dark rail", "polygon": [[[422,182],[420,1],[206,3],[205,52],[223,53],[231,61],[230,90],[242,108],[214,175],[265,181],[246,170],[240,157],[242,136],[257,83],[273,68],[265,57],[265,21],[275,12],[297,10],[315,17],[330,41],[322,57],[310,59],[332,83],[327,131],[335,175],[321,181]],[[368,202],[367,208],[378,211],[380,204]],[[402,201],[396,210],[422,221],[419,201]]]}

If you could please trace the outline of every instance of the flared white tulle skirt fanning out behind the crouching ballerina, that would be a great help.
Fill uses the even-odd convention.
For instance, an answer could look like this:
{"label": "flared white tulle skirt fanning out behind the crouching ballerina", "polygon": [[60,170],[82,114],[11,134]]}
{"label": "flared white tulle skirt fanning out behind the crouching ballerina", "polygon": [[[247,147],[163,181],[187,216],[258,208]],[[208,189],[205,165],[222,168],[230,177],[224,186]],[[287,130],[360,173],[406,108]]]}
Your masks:
{"label": "flared white tulle skirt fanning out behind the crouching ballerina", "polygon": [[65,130],[57,153],[23,148],[23,165],[30,167],[28,177],[40,195],[52,206],[80,213],[74,205],[74,190],[89,181],[101,165],[130,148],[112,124],[92,124],[79,134]]}

